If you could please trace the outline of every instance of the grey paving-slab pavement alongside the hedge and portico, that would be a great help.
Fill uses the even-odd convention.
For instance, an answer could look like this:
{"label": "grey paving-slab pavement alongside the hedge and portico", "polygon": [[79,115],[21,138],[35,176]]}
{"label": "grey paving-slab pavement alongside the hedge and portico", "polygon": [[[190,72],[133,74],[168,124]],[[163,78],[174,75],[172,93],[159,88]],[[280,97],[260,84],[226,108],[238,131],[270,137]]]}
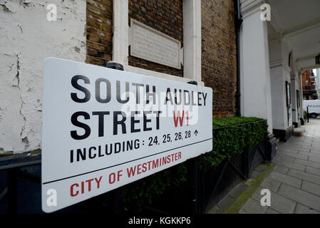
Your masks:
{"label": "grey paving-slab pavement alongside the hedge and portico", "polygon": [[[320,214],[320,119],[304,125],[303,136],[278,146],[274,170],[239,210],[239,214]],[[268,189],[271,205],[262,206]]]}

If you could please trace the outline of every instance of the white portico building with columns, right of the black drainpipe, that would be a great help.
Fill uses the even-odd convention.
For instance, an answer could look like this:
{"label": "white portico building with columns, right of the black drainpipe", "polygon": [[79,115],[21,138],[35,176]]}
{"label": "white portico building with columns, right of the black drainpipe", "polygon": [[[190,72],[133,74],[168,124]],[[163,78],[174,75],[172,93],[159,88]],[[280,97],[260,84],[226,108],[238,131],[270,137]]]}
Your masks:
{"label": "white portico building with columns, right of the black drainpipe", "polygon": [[241,1],[242,115],[267,119],[280,140],[303,117],[301,73],[317,68],[319,8],[315,0]]}

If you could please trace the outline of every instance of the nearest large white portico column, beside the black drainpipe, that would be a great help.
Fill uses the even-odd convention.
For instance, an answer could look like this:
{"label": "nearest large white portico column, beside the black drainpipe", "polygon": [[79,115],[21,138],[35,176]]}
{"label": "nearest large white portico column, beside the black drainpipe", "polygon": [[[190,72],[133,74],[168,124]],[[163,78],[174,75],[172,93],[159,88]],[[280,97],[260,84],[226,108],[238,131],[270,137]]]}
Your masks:
{"label": "nearest large white portico column, beside the black drainpipe", "polygon": [[244,10],[240,31],[241,114],[267,119],[272,133],[267,22],[260,19],[260,4]]}

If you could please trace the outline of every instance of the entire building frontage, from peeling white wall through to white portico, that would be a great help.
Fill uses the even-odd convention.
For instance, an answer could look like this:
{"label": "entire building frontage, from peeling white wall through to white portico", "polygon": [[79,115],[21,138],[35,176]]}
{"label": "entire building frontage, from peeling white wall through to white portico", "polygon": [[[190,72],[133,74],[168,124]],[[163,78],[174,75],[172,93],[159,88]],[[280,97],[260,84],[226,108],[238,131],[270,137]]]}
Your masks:
{"label": "entire building frontage, from peeling white wall through to white portico", "polygon": [[[0,154],[41,149],[47,57],[197,81],[213,90],[213,118],[264,118],[287,140],[303,117],[301,74],[319,68],[317,9],[319,0],[0,1]],[[169,62],[136,48],[139,29],[177,44]]]}

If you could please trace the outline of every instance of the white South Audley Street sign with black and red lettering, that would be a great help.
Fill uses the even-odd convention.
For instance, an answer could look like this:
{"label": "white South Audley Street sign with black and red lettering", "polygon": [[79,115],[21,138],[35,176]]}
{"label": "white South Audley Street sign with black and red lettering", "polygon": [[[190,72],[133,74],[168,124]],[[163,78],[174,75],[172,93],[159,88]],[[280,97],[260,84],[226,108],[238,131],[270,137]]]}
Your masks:
{"label": "white South Audley Street sign with black and red lettering", "polygon": [[212,89],[86,63],[43,66],[42,209],[212,150]]}

